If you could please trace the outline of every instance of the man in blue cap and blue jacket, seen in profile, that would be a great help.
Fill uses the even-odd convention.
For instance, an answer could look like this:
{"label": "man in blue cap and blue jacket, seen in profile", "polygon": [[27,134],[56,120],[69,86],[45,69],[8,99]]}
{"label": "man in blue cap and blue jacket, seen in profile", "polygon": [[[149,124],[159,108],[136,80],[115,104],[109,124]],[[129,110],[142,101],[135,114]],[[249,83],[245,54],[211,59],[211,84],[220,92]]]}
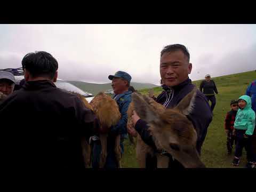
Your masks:
{"label": "man in blue cap and blue jacket, seen in profile", "polygon": [[[107,159],[105,168],[117,168],[117,162],[115,157],[115,138],[118,134],[121,134],[121,153],[124,153],[124,145],[123,141],[124,138],[127,138],[127,110],[132,101],[132,91],[129,91],[129,86],[132,77],[124,71],[117,71],[115,75],[109,75],[108,78],[112,81],[112,88],[115,93],[114,99],[119,106],[119,111],[121,113],[121,119],[119,122],[111,127],[111,132],[108,134],[107,140]],[[99,156],[101,152],[101,146],[99,138],[93,137],[93,159],[92,159],[92,167],[98,168],[99,167]]]}

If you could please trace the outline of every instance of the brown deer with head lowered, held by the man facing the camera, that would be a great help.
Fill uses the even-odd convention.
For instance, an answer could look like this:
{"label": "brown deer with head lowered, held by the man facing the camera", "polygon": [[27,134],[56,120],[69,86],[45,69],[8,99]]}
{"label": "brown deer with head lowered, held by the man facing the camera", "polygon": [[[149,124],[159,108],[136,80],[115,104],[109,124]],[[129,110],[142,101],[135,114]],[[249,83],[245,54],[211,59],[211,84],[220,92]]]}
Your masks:
{"label": "brown deer with head lowered, held by the man facing the camera", "polygon": [[[166,150],[185,167],[205,167],[196,150],[197,133],[186,117],[193,110],[196,92],[195,87],[172,109],[165,109],[146,95],[133,93],[127,126],[131,125],[132,111],[135,110],[148,123],[157,149]],[[147,153],[153,154],[153,150],[138,137],[137,158],[140,167],[145,167]],[[167,167],[169,163],[168,158],[160,154],[157,161],[157,167]]]}

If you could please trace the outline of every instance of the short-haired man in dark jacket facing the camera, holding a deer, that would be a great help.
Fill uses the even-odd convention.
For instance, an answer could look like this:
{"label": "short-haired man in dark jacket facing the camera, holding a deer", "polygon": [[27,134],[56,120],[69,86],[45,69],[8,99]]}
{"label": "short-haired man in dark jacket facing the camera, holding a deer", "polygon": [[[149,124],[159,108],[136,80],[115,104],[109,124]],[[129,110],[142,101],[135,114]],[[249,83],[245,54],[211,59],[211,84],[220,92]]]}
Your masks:
{"label": "short-haired man in dark jacket facing the camera, holding a deer", "polygon": [[[162,78],[162,87],[164,91],[157,97],[156,101],[165,108],[173,108],[194,89],[188,77],[192,69],[189,63],[189,52],[187,48],[180,44],[167,45],[161,52],[160,74]],[[207,127],[212,121],[212,113],[203,93],[197,91],[194,110],[187,115],[187,118],[193,123],[197,132],[196,149],[201,154],[201,148],[207,133]],[[132,116],[135,130],[140,134],[142,140],[159,153],[152,136],[148,132],[147,122],[140,119],[134,111]],[[128,132],[134,134],[134,130],[128,127]],[[169,167],[183,167],[177,160],[173,160],[170,154],[163,153],[170,157]],[[147,158],[147,167],[156,167],[156,158]]]}

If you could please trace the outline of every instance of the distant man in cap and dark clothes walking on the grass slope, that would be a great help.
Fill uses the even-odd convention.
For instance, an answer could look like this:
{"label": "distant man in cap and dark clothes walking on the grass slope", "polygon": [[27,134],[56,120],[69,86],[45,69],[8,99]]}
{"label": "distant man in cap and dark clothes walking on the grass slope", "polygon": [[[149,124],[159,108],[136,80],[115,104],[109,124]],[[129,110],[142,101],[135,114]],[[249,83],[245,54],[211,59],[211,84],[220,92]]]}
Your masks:
{"label": "distant man in cap and dark clothes walking on the grass slope", "polygon": [[202,81],[200,84],[200,91],[204,93],[208,102],[209,100],[211,101],[211,110],[213,111],[216,105],[216,98],[214,92],[218,94],[218,90],[214,81],[211,80],[211,75],[205,75],[205,80]]}

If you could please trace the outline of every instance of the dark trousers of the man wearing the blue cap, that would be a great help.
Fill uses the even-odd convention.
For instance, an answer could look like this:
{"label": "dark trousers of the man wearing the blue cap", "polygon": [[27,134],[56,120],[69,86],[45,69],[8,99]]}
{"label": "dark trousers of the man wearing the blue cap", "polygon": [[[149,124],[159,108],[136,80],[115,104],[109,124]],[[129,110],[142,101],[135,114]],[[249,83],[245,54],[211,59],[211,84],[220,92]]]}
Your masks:
{"label": "dark trousers of the man wearing the blue cap", "polygon": [[[100,163],[100,154],[101,154],[101,143],[100,140],[92,141],[93,147],[92,147],[92,168],[98,169],[99,163]],[[124,151],[124,145],[123,145],[123,139],[120,141],[121,146],[121,153],[123,154]],[[107,158],[106,158],[106,169],[116,169],[117,168],[117,161],[116,161],[116,155],[115,155],[115,140],[109,140],[107,141]]]}

